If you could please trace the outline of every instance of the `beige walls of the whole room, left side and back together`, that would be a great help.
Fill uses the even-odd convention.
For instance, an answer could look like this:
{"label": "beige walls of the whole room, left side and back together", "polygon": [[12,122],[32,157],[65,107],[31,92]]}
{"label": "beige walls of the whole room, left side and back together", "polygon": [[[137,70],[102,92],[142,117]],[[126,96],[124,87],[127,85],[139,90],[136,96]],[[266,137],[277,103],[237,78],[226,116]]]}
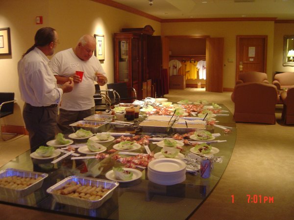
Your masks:
{"label": "beige walls of the whole room, left side and back together", "polygon": [[[35,24],[35,17],[43,16],[43,24]],[[5,125],[24,126],[21,111],[23,101],[18,89],[17,62],[33,44],[36,31],[44,26],[54,27],[61,44],[60,51],[76,44],[83,34],[105,36],[105,61],[102,63],[109,82],[113,82],[113,33],[121,28],[144,27],[150,24],[154,35],[210,35],[224,38],[224,88],[233,88],[236,69],[236,36],[267,35],[269,78],[274,71],[294,71],[282,66],[283,36],[294,35],[294,24],[274,22],[180,22],[159,23],[145,17],[112,8],[92,0],[0,0],[0,27],[11,29],[11,56],[0,56],[0,92],[15,92],[15,113],[0,119]],[[227,62],[233,59],[233,63]]]}

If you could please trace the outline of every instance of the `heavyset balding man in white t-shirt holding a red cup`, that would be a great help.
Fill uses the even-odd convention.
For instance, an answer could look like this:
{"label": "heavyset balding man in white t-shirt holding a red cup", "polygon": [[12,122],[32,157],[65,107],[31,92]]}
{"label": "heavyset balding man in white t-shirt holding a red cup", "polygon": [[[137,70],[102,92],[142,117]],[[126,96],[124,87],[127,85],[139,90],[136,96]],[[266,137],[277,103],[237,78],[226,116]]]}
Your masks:
{"label": "heavyset balding man in white t-shirt holding a red cup", "polygon": [[[96,39],[90,35],[82,36],[77,45],[60,51],[51,60],[51,69],[58,84],[73,78],[74,88],[71,93],[63,94],[58,115],[58,128],[62,133],[73,132],[70,124],[95,114],[95,81],[99,86],[107,83],[97,57],[93,56]],[[82,79],[75,74],[82,71]]]}

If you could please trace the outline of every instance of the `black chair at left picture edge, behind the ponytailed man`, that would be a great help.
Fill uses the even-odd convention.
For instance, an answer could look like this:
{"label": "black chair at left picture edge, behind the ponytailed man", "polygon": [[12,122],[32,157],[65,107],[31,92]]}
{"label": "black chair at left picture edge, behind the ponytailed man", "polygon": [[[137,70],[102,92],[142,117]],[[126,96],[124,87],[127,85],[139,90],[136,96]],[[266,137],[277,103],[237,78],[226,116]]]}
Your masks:
{"label": "black chair at left picture edge, behind the ponytailed man", "polygon": [[[13,114],[14,102],[15,102],[14,92],[0,92],[0,118]],[[8,138],[4,138],[3,134],[10,134],[12,136]],[[3,133],[1,131],[1,124],[0,124],[0,137],[2,140],[4,141],[8,140],[16,135],[17,133]]]}

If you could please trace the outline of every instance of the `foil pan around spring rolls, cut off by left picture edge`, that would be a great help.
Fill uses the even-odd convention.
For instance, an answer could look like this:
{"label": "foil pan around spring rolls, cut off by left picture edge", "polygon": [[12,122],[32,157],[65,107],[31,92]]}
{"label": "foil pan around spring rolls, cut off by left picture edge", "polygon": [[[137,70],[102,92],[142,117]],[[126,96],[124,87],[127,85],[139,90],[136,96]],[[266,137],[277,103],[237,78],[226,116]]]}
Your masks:
{"label": "foil pan around spring rolls, cut off by left picture edge", "polygon": [[42,177],[40,180],[36,181],[35,183],[31,184],[30,186],[26,187],[25,189],[10,189],[6,187],[0,186],[0,194],[6,197],[25,197],[32,192],[36,191],[37,189],[41,188],[44,179],[48,176],[45,173],[38,173],[38,172],[30,172],[30,171],[23,171],[8,168],[6,170],[0,171],[0,178],[8,177],[8,176],[21,176],[21,177]]}

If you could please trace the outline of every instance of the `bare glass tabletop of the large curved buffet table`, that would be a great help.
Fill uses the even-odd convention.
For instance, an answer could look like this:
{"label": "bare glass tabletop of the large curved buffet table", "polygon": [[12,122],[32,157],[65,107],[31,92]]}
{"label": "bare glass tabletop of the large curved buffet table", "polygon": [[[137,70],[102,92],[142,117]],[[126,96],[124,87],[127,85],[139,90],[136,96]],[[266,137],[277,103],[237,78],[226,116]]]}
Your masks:
{"label": "bare glass tabletop of the large curved buffet table", "polygon": [[[130,182],[120,182],[119,186],[114,190],[112,197],[99,208],[86,209],[58,203],[46,190],[68,176],[90,176],[106,179],[105,174],[118,162],[113,161],[110,157],[103,160],[92,159],[94,166],[96,164],[100,172],[98,176],[91,176],[94,174],[90,174],[87,170],[83,169],[85,160],[73,160],[71,156],[68,156],[58,163],[52,164],[52,160],[32,159],[30,157],[31,152],[27,151],[2,166],[0,170],[14,168],[47,173],[49,176],[44,179],[42,187],[33,193],[22,198],[0,195],[0,202],[87,219],[187,219],[213,191],[234,149],[236,125],[233,121],[233,115],[225,106],[220,106],[222,107],[223,115],[216,116],[216,124],[231,127],[232,129],[230,129],[230,132],[224,132],[224,129],[219,127],[208,126],[209,131],[212,133],[221,134],[218,140],[225,140],[211,144],[220,150],[215,156],[222,157],[222,162],[213,163],[213,169],[209,178],[202,178],[197,173],[196,175],[195,173],[186,173],[186,180],[179,184],[159,185],[148,180],[147,169],[139,169],[142,171],[140,178]],[[108,146],[107,149],[112,149],[112,146],[113,144]],[[154,154],[161,150],[161,147],[152,142],[150,142],[148,147]],[[187,151],[189,150],[188,148],[186,147]],[[146,154],[146,149],[142,146],[133,152]]]}

